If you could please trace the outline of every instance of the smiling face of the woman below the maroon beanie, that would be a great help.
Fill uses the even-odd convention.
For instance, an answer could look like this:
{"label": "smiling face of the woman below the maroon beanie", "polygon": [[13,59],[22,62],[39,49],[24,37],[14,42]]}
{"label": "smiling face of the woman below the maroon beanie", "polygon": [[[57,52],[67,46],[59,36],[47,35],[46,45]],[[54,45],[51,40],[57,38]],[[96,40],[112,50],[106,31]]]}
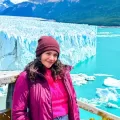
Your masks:
{"label": "smiling face of the woman below the maroon beanie", "polygon": [[41,54],[41,62],[46,68],[50,68],[57,61],[57,58],[58,53],[53,50]]}

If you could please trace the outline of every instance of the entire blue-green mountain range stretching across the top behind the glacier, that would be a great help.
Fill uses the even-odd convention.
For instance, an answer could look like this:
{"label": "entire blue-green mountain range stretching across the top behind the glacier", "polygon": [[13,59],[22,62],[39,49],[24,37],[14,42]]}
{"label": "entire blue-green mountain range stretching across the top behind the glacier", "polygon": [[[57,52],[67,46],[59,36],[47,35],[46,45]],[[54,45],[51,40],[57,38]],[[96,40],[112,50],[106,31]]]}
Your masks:
{"label": "entire blue-green mountain range stretching across the top behind the glacier", "polygon": [[[41,1],[43,1],[41,3]],[[51,2],[52,1],[52,2]],[[6,8],[1,15],[42,17],[58,22],[120,25],[120,0],[30,0]],[[36,3],[41,4],[36,4]]]}

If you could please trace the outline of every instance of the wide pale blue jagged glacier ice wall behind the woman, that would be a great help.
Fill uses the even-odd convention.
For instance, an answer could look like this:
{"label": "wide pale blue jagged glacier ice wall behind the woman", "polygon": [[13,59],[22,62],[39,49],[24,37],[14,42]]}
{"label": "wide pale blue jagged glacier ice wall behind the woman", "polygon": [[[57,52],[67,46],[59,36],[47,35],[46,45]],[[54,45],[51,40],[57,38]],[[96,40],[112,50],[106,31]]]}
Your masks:
{"label": "wide pale blue jagged glacier ice wall behind the woman", "polygon": [[56,38],[61,47],[60,59],[74,66],[96,54],[96,32],[96,26],[0,16],[0,70],[22,70],[34,59],[42,35]]}

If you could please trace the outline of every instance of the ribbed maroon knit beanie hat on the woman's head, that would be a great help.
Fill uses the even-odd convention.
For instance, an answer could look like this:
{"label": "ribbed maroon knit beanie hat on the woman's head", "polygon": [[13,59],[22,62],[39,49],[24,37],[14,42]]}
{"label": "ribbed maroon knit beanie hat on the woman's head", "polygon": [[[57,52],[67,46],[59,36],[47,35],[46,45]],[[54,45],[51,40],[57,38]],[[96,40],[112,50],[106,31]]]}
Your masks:
{"label": "ribbed maroon knit beanie hat on the woman's head", "polygon": [[60,53],[60,47],[58,42],[51,36],[42,36],[38,40],[38,46],[36,48],[36,57],[48,50],[54,50],[58,54]]}

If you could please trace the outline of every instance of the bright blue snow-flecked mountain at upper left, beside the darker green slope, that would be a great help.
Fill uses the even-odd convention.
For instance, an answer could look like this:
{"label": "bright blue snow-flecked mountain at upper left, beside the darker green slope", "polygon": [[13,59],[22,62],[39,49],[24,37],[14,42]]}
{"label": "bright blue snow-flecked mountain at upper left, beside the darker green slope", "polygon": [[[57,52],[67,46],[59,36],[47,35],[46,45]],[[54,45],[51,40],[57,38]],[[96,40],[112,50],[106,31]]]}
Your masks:
{"label": "bright blue snow-flecked mountain at upper left, beside the darker green slope", "polygon": [[64,0],[62,2],[48,2],[48,0],[41,1],[45,3],[40,4],[39,0],[39,4],[36,4],[38,0],[34,0],[34,2],[31,0],[14,4],[12,7],[5,9],[1,14],[54,19],[56,15],[61,14],[61,12],[65,12],[66,9],[74,3],[69,2],[68,0]]}

